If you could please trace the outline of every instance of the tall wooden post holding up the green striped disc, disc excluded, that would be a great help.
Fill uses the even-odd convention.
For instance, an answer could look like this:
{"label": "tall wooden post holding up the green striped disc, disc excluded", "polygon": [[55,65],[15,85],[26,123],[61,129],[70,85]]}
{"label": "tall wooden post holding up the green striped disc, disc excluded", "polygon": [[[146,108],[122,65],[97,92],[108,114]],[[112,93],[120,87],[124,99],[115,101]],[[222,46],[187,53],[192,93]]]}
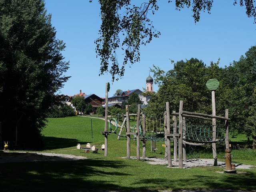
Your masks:
{"label": "tall wooden post holding up the green striped disc, disc excluded", "polygon": [[[212,115],[216,116],[216,109],[215,109],[215,92],[212,91]],[[216,118],[212,118],[212,140],[216,140]],[[212,143],[212,153],[214,159],[214,166],[218,165],[217,161],[217,152],[216,152],[216,143]]]}

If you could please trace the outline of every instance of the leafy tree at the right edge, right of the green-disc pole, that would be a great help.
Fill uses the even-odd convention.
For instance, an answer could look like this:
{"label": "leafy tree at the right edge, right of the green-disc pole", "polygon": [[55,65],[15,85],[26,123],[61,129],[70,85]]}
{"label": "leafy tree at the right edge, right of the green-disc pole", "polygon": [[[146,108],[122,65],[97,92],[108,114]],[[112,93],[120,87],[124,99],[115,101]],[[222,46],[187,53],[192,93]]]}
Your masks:
{"label": "leafy tree at the right edge, right of the green-disc pole", "polygon": [[232,65],[227,66],[221,78],[225,86],[221,106],[230,109],[232,119],[230,128],[233,135],[245,133],[252,136],[256,142],[251,121],[255,115],[253,110],[256,88],[256,46],[252,46],[239,61],[234,61]]}

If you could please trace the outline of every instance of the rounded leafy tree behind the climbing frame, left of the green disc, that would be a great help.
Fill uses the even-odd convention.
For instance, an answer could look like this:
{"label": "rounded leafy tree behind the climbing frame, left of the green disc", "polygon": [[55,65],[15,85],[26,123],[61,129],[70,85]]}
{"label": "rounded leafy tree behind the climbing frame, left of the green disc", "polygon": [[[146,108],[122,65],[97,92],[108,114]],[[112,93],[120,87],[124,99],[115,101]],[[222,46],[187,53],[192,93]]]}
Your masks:
{"label": "rounded leafy tree behind the climbing frame, left of the green disc", "polygon": [[[212,64],[209,68],[214,66]],[[212,74],[202,60],[191,58],[178,61],[174,63],[174,69],[168,72],[154,66],[152,72],[159,90],[151,95],[150,113],[163,113],[166,102],[169,102],[171,110],[178,111],[180,100],[184,101],[184,108],[188,111],[209,112],[211,94],[206,88],[206,82],[212,78]]]}

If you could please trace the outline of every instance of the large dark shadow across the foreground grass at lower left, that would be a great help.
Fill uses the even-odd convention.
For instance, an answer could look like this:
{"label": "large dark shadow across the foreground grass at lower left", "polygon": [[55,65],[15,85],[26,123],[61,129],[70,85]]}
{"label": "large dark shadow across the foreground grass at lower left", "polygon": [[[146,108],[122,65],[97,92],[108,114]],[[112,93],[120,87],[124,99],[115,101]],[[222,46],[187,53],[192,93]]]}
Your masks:
{"label": "large dark shadow across the foreground grass at lower left", "polygon": [[120,171],[123,161],[86,159],[59,162],[19,162],[0,164],[0,191],[77,191],[120,188],[116,177],[130,176]]}

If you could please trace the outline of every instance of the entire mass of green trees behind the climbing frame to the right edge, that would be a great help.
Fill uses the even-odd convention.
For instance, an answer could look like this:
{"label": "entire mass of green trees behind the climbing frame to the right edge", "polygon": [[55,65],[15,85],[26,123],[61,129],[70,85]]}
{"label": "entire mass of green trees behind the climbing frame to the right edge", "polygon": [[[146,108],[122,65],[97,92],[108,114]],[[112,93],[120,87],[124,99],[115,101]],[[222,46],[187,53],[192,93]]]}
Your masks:
{"label": "entire mass of green trees behind the climbing frame to the right edge", "polygon": [[179,102],[183,100],[186,111],[212,114],[211,91],[206,82],[216,78],[220,82],[215,91],[216,114],[225,116],[225,109],[229,109],[232,136],[239,133],[251,136],[256,148],[255,63],[256,46],[252,46],[239,61],[225,68],[219,68],[218,62],[205,66],[194,58],[174,63],[174,69],[168,72],[154,66],[151,71],[159,90],[151,95],[145,112],[152,116],[162,114],[166,102],[169,102],[171,111],[178,111]]}

